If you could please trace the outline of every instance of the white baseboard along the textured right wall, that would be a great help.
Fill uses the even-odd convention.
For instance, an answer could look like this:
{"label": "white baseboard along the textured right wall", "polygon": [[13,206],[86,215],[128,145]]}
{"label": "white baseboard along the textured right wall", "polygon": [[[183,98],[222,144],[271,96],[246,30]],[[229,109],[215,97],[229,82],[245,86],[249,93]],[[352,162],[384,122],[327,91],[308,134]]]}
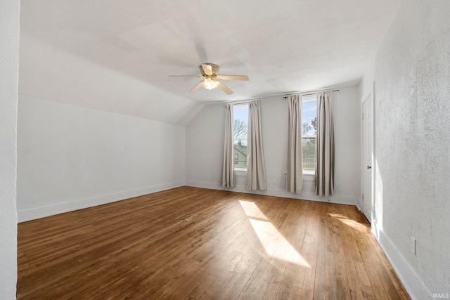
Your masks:
{"label": "white baseboard along the textured right wall", "polygon": [[[372,228],[376,228],[372,226]],[[390,261],[395,273],[399,276],[401,283],[404,285],[406,292],[413,300],[433,299],[432,292],[425,287],[423,282],[419,279],[416,271],[412,266],[404,259],[397,247],[395,247],[392,240],[383,232],[378,230],[378,234],[373,232],[375,237],[378,236],[378,244],[385,252],[387,260]]]}

